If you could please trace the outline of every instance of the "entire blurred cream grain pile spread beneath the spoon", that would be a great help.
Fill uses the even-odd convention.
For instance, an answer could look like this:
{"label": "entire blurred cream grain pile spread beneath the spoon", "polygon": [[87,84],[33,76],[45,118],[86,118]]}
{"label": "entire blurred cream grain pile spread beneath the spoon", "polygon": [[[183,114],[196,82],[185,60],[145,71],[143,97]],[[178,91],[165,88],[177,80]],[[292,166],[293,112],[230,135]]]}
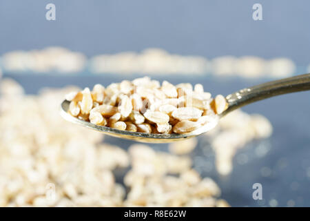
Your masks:
{"label": "entire blurred cream grain pile spread beneath the spoon", "polygon": [[[59,102],[74,88],[34,96],[12,79],[0,86],[0,206],[228,206],[189,157],[144,145],[128,155],[101,133],[64,122]],[[130,164],[126,196],[113,169]]]}

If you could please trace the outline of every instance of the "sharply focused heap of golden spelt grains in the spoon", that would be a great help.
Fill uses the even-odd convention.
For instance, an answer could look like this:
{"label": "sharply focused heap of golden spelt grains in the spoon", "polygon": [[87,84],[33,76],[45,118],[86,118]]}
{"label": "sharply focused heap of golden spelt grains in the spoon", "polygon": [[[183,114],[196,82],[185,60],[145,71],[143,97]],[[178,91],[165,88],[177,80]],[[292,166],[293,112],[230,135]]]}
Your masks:
{"label": "sharply focused heap of golden spelt grains in the spoon", "polygon": [[[71,101],[72,115],[94,124],[120,129],[126,125],[127,131],[143,133],[187,133],[207,124],[209,116],[223,112],[227,105],[220,96],[211,99],[201,84],[193,90],[192,84],[174,86],[163,81],[161,86],[158,81],[142,77],[107,88],[96,84],[92,93],[85,88],[68,94],[67,99]],[[101,121],[101,117],[105,120]]]}

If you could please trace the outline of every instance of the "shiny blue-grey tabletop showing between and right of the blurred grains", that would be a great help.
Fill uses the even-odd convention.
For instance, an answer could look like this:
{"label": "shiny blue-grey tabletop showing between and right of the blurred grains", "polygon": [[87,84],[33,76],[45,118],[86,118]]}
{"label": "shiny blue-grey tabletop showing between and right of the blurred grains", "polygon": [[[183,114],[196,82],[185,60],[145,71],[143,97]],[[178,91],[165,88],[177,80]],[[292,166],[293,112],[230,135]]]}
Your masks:
{"label": "shiny blue-grey tabletop showing between and right of the blurred grains", "polygon": [[[134,76],[120,75],[79,76],[37,76],[11,75],[21,83],[27,93],[37,93],[44,86],[63,87],[68,84],[81,87],[93,86],[95,83],[108,85]],[[160,79],[162,80],[162,79]],[[227,95],[240,88],[253,86],[268,79],[219,79],[211,77],[170,77],[172,83],[200,82],[205,90],[213,94]],[[205,139],[199,140],[192,157],[194,167],[204,176],[212,177],[223,190],[222,197],[232,206],[269,206],[269,201],[276,199],[278,206],[310,206],[310,92],[294,93],[273,97],[243,108],[247,113],[265,115],[273,125],[273,135],[267,140],[251,142],[238,151],[234,158],[234,171],[228,177],[220,177],[214,169],[214,153]],[[133,142],[107,137],[106,142],[127,148]],[[167,151],[167,144],[153,144],[155,149]],[[258,157],[257,152],[265,150],[266,154]],[[242,163],[246,156],[248,161]],[[265,169],[263,169],[265,168]],[[267,169],[266,169],[267,168]],[[264,170],[270,169],[269,176],[263,176]],[[262,184],[263,200],[253,200],[252,185]],[[289,201],[293,200],[293,201]],[[293,204],[292,204],[293,202]]]}

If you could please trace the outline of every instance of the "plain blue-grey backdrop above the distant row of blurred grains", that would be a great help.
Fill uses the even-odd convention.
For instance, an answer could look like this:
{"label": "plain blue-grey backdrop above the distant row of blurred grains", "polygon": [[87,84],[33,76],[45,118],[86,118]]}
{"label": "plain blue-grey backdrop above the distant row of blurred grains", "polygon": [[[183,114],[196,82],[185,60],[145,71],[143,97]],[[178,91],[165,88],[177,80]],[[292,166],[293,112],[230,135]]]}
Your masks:
{"label": "plain blue-grey backdrop above the distant row of blurred grains", "polygon": [[[56,21],[45,19],[47,3]],[[252,19],[262,4],[263,21]],[[1,0],[0,54],[65,46],[96,55],[159,47],[184,55],[309,59],[310,1]]]}

